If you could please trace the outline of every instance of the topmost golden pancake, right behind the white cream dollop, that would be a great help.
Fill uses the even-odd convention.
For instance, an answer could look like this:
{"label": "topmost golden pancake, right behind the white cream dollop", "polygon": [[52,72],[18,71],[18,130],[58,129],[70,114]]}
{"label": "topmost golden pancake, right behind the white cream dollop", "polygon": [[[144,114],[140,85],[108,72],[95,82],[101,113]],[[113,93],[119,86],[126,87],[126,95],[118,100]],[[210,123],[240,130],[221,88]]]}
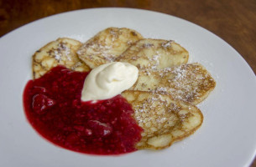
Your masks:
{"label": "topmost golden pancake, right behind the white cream dollop", "polygon": [[114,61],[142,35],[129,28],[107,28],[97,33],[77,51],[90,68]]}

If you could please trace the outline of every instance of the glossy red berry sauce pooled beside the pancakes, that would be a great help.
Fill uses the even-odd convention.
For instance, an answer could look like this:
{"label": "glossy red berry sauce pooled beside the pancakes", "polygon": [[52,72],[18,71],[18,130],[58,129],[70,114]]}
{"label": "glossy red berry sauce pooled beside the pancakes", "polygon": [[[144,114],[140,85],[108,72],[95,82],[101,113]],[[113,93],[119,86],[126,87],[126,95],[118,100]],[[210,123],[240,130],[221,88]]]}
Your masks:
{"label": "glossy red berry sauce pooled beside the pancakes", "polygon": [[87,73],[57,66],[24,89],[29,123],[45,139],[86,154],[123,154],[135,151],[142,129],[133,109],[121,95],[96,104],[81,102]]}

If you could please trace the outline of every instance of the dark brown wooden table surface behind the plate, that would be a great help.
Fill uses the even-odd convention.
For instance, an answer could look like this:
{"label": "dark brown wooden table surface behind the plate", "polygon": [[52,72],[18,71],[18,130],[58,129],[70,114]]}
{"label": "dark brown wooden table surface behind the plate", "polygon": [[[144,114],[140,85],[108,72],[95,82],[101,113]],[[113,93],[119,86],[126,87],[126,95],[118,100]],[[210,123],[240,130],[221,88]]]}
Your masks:
{"label": "dark brown wooden table surface behind the plate", "polygon": [[0,0],[0,37],[39,18],[101,7],[143,8],[189,20],[224,39],[256,73],[255,0]]}

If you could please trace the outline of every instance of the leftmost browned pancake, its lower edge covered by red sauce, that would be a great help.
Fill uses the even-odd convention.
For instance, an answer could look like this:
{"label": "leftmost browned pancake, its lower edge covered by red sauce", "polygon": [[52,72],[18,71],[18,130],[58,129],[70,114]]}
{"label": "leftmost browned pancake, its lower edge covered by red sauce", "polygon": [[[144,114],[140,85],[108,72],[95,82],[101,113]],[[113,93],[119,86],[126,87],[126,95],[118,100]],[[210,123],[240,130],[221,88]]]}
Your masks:
{"label": "leftmost browned pancake, its lower edge covered by red sauce", "polygon": [[46,44],[33,55],[33,78],[40,78],[57,65],[63,65],[75,71],[89,71],[90,68],[76,54],[80,47],[81,43],[71,38],[58,38]]}

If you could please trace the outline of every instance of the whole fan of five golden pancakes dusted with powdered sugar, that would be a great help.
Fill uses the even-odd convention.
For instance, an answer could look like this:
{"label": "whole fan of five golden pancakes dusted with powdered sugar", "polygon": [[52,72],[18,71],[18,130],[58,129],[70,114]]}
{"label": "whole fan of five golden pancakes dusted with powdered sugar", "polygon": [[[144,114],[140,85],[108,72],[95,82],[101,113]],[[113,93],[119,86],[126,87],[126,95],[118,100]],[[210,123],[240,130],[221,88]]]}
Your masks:
{"label": "whole fan of five golden pancakes dusted with powdered sugar", "polygon": [[193,134],[203,121],[196,104],[206,99],[215,81],[200,63],[187,63],[189,53],[172,40],[143,38],[129,28],[107,28],[86,43],[58,38],[33,56],[33,76],[57,65],[87,72],[103,63],[128,62],[138,67],[138,80],[122,93],[133,118],[144,129],[138,149],[164,149]]}

